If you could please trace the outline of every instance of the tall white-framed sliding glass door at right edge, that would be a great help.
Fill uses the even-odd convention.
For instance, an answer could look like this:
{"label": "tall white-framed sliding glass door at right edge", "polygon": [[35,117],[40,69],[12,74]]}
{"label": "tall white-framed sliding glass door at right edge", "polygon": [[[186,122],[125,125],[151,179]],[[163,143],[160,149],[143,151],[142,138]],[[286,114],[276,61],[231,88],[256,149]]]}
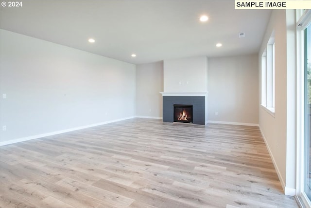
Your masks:
{"label": "tall white-framed sliding glass door at right edge", "polygon": [[[311,207],[311,11],[297,22],[297,196]],[[299,11],[297,10],[297,13]]]}

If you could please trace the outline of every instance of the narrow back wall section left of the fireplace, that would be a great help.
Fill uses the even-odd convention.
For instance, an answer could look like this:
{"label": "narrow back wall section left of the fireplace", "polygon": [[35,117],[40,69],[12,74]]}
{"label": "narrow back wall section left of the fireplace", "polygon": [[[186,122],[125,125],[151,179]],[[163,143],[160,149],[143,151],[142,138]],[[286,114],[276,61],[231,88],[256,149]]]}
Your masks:
{"label": "narrow back wall section left of the fireplace", "polygon": [[163,61],[136,67],[136,114],[162,118]]}

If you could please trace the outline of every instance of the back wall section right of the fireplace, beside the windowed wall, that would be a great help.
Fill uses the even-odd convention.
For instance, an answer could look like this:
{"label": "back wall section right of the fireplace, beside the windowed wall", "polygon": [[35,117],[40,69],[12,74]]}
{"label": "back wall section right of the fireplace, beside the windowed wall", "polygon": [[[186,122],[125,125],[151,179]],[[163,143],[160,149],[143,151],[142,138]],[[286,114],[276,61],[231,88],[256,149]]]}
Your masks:
{"label": "back wall section right of the fireplace, beside the windowed wall", "polygon": [[258,102],[258,55],[208,58],[210,122],[258,124]]}

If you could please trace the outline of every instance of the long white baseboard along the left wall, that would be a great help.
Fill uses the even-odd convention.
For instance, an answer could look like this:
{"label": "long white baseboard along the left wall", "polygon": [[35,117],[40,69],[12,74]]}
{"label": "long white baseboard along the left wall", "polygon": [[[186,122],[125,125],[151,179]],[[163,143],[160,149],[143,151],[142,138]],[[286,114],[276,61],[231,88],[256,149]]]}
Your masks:
{"label": "long white baseboard along the left wall", "polygon": [[56,131],[56,132],[49,132],[49,133],[43,133],[43,134],[37,134],[37,135],[22,137],[22,138],[18,138],[18,139],[12,139],[12,140],[8,140],[8,141],[0,142],[0,146],[14,144],[17,142],[28,141],[31,139],[42,138],[42,137],[46,137],[46,136],[52,136],[52,135],[56,135],[56,134],[60,134],[60,133],[72,132],[72,131],[76,131],[76,130],[80,130],[80,129],[86,129],[86,128],[90,128],[90,127],[94,127],[94,126],[100,126],[100,125],[113,123],[113,122],[117,122],[117,121],[122,121],[122,120],[127,120],[127,119],[131,119],[131,118],[135,118],[135,117],[136,116],[130,116],[130,117],[125,117],[125,118],[120,118],[120,119],[115,119],[115,120],[110,120],[110,121],[104,121],[101,123],[95,123],[95,124],[90,124],[90,125],[86,125],[86,126],[80,126],[80,127],[75,127],[75,128],[71,128],[71,129],[60,130],[60,131]]}

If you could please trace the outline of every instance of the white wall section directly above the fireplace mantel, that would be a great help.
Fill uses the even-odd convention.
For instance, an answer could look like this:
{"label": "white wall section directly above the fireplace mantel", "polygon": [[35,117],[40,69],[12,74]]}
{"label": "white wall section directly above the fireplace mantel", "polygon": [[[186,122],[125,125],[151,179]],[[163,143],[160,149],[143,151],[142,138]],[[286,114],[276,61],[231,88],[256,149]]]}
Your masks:
{"label": "white wall section directly above the fireplace mantel", "polygon": [[207,57],[164,60],[164,92],[207,92]]}

